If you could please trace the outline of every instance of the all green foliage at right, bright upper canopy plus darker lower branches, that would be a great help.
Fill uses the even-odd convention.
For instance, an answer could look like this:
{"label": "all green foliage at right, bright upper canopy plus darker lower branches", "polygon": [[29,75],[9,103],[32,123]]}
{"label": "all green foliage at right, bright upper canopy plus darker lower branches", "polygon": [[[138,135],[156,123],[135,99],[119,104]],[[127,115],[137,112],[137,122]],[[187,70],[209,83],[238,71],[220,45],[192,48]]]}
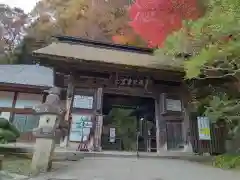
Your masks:
{"label": "all green foliage at right, bright upper canopy plus darker lower branches", "polygon": [[234,96],[226,89],[220,93],[208,88],[209,94],[198,99],[205,115],[214,122],[225,120],[229,127],[236,127],[239,123],[233,122],[240,121],[239,5],[239,0],[205,0],[205,14],[198,20],[183,22],[183,28],[170,35],[164,48],[158,50],[170,56],[183,55],[185,59],[180,64],[188,80],[219,79],[223,86],[231,78],[231,88],[237,90]]}

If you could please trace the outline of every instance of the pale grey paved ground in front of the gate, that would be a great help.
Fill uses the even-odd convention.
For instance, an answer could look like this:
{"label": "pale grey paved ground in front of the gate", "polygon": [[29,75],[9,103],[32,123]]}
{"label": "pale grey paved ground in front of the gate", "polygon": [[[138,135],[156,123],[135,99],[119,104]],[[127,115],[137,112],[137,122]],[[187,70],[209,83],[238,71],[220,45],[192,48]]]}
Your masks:
{"label": "pale grey paved ground in front of the gate", "polygon": [[61,180],[239,180],[240,173],[170,159],[88,157],[46,179]]}

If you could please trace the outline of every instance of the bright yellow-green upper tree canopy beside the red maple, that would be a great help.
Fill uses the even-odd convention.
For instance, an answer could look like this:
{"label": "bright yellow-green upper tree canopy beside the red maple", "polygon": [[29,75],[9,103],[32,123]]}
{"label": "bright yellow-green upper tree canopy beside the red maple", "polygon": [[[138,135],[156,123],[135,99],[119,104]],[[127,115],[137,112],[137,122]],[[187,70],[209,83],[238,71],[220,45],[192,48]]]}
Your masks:
{"label": "bright yellow-green upper tree canopy beside the red maple", "polygon": [[205,15],[170,35],[164,51],[168,55],[185,53],[186,78],[239,79],[240,1],[205,0]]}

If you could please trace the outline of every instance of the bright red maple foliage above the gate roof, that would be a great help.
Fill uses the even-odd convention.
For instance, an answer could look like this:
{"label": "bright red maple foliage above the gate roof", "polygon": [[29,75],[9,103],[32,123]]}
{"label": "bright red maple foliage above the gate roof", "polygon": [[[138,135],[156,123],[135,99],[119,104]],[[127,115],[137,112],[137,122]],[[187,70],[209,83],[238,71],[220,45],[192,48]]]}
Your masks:
{"label": "bright red maple foliage above the gate roof", "polygon": [[130,26],[150,47],[162,47],[183,20],[201,16],[197,0],[136,0],[129,9]]}

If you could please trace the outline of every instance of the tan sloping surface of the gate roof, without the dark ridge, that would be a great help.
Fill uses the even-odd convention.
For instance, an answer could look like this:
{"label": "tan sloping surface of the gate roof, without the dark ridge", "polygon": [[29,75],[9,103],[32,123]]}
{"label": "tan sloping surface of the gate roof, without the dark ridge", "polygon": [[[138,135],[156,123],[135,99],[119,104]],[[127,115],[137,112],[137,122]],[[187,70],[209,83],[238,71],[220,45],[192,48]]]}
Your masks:
{"label": "tan sloping surface of the gate roof, without the dark ridge", "polygon": [[70,60],[73,58],[79,60],[79,62],[91,61],[148,69],[181,71],[180,64],[177,64],[176,61],[170,57],[160,57],[160,55],[154,56],[146,53],[127,52],[68,42],[54,42],[44,48],[34,51],[33,55],[39,57],[56,56]]}

